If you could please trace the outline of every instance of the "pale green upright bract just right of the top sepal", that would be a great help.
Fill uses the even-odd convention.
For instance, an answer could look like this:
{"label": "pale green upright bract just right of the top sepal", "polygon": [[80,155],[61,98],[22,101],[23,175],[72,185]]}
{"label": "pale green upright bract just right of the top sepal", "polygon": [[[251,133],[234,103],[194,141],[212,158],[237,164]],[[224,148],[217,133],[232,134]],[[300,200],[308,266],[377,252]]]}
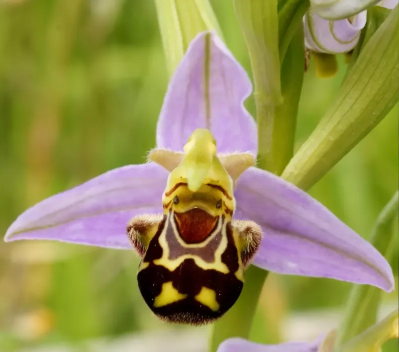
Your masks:
{"label": "pale green upright bract just right of the top sepal", "polygon": [[273,172],[274,110],[282,103],[277,0],[234,0],[234,10],[251,60],[258,123],[258,166]]}

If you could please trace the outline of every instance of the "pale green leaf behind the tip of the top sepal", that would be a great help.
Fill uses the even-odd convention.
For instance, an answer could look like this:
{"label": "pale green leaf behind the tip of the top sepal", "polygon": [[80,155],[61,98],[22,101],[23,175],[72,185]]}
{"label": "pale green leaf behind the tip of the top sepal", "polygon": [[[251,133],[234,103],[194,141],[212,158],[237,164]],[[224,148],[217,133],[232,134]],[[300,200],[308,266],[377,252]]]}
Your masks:
{"label": "pale green leaf behind the tip of the top sepal", "polygon": [[198,33],[214,30],[222,38],[208,0],[155,0],[155,5],[169,76]]}

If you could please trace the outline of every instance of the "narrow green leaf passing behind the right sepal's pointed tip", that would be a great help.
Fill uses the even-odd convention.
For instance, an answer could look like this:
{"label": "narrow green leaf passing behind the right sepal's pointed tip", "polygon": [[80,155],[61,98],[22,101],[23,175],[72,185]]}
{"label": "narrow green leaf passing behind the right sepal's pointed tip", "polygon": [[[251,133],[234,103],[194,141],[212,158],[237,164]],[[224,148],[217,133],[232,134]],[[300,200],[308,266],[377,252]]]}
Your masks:
{"label": "narrow green leaf passing behind the right sepal's pointed tip", "polygon": [[[387,259],[392,260],[398,234],[394,231],[395,220],[398,219],[399,193],[385,206],[373,229],[370,242]],[[335,347],[359,335],[377,321],[377,311],[382,291],[374,286],[353,285],[349,294],[343,321],[338,330]]]}

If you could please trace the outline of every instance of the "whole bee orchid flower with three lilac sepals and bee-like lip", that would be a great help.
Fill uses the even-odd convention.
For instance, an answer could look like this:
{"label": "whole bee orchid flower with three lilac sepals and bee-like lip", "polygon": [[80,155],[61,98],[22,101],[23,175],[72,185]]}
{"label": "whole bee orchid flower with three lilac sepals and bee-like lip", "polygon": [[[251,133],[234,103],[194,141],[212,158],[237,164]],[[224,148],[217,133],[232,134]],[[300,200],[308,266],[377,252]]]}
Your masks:
{"label": "whole bee orchid flower with three lilac sepals and bee-like lip", "polygon": [[393,290],[392,269],[369,242],[306,192],[254,166],[256,125],[243,105],[251,90],[220,38],[200,33],[169,84],[150,161],[41,201],[5,241],[135,249],[142,296],[170,322],[223,315],[250,263]]}

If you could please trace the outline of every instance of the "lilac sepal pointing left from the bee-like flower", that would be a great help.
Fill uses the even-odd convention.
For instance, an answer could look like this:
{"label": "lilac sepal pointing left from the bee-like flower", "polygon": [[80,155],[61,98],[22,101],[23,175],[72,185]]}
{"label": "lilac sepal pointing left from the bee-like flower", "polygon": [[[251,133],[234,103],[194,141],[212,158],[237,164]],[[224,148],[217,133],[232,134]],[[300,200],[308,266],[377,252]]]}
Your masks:
{"label": "lilac sepal pointing left from the bee-like flower", "polygon": [[162,212],[168,172],[155,163],[108,171],[27,209],[4,240],[56,240],[132,248],[126,225],[135,215]]}

